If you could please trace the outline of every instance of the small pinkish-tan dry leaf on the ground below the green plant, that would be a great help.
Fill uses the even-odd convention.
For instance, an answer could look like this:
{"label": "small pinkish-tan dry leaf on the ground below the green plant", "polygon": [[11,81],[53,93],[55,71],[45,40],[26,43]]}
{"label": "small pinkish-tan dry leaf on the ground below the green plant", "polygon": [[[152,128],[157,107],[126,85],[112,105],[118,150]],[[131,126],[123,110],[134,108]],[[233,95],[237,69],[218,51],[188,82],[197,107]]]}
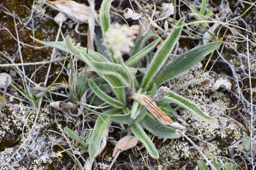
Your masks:
{"label": "small pinkish-tan dry leaf on the ground below the green plant", "polygon": [[[133,148],[137,145],[138,139],[136,136],[124,136],[121,138],[118,143],[115,145],[114,151],[112,153],[112,156],[116,156],[118,151],[120,152],[126,151],[130,148]],[[119,153],[120,153],[119,152]]]}

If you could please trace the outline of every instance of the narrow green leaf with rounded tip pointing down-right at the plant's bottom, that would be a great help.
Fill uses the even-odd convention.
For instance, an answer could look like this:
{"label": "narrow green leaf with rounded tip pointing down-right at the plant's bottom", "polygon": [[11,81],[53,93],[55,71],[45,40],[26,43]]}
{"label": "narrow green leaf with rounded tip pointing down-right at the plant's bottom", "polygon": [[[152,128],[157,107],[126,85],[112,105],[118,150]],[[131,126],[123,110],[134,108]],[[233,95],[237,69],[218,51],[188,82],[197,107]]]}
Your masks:
{"label": "narrow green leaf with rounded tip pointing down-right at the plant's bottom", "polygon": [[151,139],[146,135],[143,128],[135,123],[131,127],[132,133],[145,145],[147,152],[150,154],[152,158],[159,158],[159,154],[157,149],[155,148],[155,144],[151,141]]}

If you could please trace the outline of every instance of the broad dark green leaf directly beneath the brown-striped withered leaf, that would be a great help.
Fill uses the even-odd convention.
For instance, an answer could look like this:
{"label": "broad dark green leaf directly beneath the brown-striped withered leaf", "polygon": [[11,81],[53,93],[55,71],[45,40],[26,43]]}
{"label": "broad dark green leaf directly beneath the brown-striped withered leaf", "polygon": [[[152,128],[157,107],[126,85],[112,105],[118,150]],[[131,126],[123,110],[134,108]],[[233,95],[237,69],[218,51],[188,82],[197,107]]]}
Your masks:
{"label": "broad dark green leaf directly beneath the brown-striped withered leaf", "polygon": [[143,121],[140,122],[140,124],[148,130],[150,133],[152,133],[155,136],[163,137],[163,138],[178,138],[180,135],[178,135],[175,132],[175,129],[172,127],[168,127],[161,123],[160,121],[154,119],[151,115],[147,114]]}

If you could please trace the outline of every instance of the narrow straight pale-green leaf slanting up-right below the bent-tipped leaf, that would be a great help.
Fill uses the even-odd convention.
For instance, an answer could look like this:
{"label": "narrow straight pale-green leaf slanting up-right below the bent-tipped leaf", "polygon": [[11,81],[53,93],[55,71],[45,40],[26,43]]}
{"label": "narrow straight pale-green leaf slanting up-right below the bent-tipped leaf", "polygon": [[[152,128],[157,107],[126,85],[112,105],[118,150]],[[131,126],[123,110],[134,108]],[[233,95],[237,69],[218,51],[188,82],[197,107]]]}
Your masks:
{"label": "narrow straight pale-green leaf slanting up-right below the bent-tipped leaf", "polygon": [[150,44],[148,44],[145,48],[143,48],[142,50],[138,51],[134,56],[132,56],[131,58],[129,58],[125,64],[128,67],[132,67],[135,64],[137,64],[137,62],[142,59],[144,56],[146,56],[147,53],[149,53],[150,51],[152,51],[153,49],[155,49],[155,46],[160,42],[160,39],[155,40],[154,42],[151,42]]}

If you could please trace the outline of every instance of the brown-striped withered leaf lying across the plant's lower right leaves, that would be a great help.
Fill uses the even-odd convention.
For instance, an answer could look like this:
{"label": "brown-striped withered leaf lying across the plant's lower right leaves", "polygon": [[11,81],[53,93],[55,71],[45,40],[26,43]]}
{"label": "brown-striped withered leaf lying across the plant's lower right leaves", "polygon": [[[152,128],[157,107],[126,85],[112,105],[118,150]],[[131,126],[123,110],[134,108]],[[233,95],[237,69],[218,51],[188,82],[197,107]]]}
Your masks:
{"label": "brown-striped withered leaf lying across the plant's lower right leaves", "polygon": [[155,102],[152,102],[152,98],[148,95],[144,94],[138,94],[134,93],[133,96],[131,96],[132,99],[136,100],[140,104],[146,106],[146,110],[148,110],[157,120],[159,120],[161,123],[165,125],[170,125],[171,127],[178,128],[178,129],[184,129],[182,125],[179,123],[174,123],[169,116],[165,114],[163,110],[161,110]]}

